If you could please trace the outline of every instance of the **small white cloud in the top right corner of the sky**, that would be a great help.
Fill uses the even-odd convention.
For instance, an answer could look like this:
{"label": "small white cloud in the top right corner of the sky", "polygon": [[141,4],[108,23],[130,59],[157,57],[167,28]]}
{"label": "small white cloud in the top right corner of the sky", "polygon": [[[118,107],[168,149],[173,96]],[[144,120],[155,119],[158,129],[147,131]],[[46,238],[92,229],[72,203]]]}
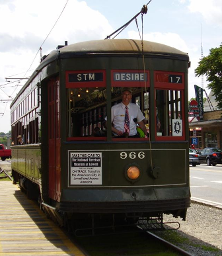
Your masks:
{"label": "small white cloud in the top right corner of the sky", "polygon": [[221,0],[190,0],[188,9],[192,13],[200,13],[206,22],[222,26]]}

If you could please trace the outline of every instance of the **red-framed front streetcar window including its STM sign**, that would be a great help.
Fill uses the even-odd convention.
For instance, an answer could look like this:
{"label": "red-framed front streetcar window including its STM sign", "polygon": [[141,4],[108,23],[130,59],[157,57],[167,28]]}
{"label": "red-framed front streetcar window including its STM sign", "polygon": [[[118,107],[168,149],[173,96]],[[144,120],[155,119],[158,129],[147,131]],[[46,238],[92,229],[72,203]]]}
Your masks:
{"label": "red-framed front streetcar window including its STM sign", "polygon": [[67,71],[67,140],[106,140],[106,73]]}

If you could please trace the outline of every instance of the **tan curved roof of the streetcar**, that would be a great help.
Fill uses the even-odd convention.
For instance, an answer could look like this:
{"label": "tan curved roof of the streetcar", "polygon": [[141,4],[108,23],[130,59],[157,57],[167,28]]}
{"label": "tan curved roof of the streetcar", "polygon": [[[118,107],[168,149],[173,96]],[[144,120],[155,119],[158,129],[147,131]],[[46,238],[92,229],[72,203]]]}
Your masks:
{"label": "tan curved roof of the streetcar", "polygon": [[[144,54],[151,58],[176,58],[177,60],[184,60],[189,62],[189,56],[185,52],[166,46],[165,44],[159,44],[157,42],[143,41],[143,49],[141,40],[134,39],[107,39],[107,40],[92,40],[85,42],[78,42],[70,44],[69,46],[63,46],[59,50],[54,50],[44,56],[42,62],[34,73],[32,73],[30,79],[26,82],[24,87],[20,90],[17,97],[22,93],[24,88],[34,79],[38,72],[46,67],[46,65],[54,62],[55,60],[63,58],[73,58],[75,56],[86,56],[94,54]],[[17,99],[17,97],[15,99]],[[14,104],[15,100],[11,104]]]}

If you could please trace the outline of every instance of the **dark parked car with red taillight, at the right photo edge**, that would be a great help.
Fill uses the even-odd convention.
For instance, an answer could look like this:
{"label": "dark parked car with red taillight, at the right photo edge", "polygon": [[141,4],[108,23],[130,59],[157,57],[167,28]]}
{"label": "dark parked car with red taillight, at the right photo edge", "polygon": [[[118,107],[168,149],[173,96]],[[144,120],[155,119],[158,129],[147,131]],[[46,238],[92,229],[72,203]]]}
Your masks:
{"label": "dark parked car with red taillight, at the right photo edge", "polygon": [[207,165],[217,165],[222,163],[222,150],[220,148],[204,148],[199,155],[200,163],[207,163]]}

